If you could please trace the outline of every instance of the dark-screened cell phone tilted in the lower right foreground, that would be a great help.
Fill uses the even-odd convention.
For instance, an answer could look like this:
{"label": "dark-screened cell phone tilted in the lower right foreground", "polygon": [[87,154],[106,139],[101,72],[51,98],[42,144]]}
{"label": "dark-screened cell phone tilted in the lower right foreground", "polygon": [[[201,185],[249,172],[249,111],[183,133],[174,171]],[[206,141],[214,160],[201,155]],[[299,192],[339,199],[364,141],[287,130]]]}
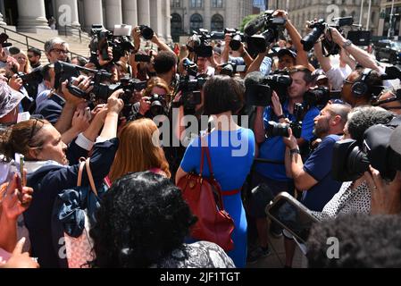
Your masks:
{"label": "dark-screened cell phone tilted in the lower right foreground", "polygon": [[280,193],[266,206],[266,214],[302,243],[306,243],[313,223],[319,222],[306,206],[287,192]]}

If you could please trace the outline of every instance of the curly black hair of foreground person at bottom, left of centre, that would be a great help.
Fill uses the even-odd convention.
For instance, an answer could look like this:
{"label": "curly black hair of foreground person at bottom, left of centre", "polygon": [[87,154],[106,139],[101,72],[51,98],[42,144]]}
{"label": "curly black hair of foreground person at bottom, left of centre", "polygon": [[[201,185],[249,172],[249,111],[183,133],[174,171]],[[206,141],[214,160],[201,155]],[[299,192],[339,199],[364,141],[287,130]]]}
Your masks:
{"label": "curly black hair of foreground person at bottom, left of centre", "polygon": [[171,181],[137,172],[113,183],[96,221],[92,267],[146,268],[184,243],[196,217]]}

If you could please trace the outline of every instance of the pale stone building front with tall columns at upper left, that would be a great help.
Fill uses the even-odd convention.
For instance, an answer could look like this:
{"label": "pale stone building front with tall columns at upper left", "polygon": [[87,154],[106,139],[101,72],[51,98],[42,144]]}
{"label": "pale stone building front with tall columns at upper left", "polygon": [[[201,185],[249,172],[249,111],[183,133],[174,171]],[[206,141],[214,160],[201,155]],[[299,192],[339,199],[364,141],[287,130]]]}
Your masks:
{"label": "pale stone building front with tall columns at upper left", "polygon": [[0,0],[3,24],[25,32],[50,29],[54,16],[58,27],[65,25],[89,30],[92,24],[107,29],[121,23],[146,24],[159,37],[171,39],[171,0]]}

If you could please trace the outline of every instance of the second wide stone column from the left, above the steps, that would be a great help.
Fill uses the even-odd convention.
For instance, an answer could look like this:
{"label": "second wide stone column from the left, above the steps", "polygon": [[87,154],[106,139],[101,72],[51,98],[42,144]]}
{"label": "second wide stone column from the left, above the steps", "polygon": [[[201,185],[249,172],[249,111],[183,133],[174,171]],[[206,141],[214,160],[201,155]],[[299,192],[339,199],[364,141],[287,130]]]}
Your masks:
{"label": "second wide stone column from the left, above the steps", "polygon": [[80,27],[77,0],[56,0],[55,10],[59,27]]}

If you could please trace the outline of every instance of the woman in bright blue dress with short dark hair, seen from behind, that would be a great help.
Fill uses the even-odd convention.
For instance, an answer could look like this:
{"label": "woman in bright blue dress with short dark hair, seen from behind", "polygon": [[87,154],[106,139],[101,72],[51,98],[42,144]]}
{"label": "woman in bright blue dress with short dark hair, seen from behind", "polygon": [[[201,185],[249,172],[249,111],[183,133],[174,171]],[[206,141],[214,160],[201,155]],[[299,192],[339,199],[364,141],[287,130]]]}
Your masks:
{"label": "woman in bright blue dress with short dark hair, seen from behind", "polygon": [[[246,266],[246,214],[241,192],[246,176],[255,157],[255,135],[252,130],[241,128],[233,115],[243,104],[243,89],[230,77],[216,76],[205,83],[205,114],[213,116],[215,128],[203,139],[212,158],[214,177],[222,190],[224,208],[235,223],[231,238],[234,249],[228,254],[239,268]],[[176,175],[176,182],[188,172],[200,172],[201,139],[194,139],[188,146]],[[204,176],[209,177],[208,165]]]}

